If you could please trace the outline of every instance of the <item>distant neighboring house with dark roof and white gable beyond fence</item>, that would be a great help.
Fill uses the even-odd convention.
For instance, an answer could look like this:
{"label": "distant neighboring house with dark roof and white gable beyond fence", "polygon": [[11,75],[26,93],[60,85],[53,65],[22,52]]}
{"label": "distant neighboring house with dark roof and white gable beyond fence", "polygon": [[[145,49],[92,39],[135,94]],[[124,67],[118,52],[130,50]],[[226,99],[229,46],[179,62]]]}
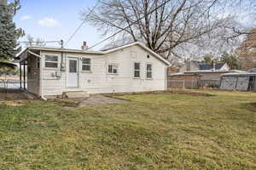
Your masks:
{"label": "distant neighboring house with dark roof and white gable beyond fence", "polygon": [[180,72],[186,71],[230,71],[227,63],[208,64],[200,61],[186,60],[185,64],[180,68]]}

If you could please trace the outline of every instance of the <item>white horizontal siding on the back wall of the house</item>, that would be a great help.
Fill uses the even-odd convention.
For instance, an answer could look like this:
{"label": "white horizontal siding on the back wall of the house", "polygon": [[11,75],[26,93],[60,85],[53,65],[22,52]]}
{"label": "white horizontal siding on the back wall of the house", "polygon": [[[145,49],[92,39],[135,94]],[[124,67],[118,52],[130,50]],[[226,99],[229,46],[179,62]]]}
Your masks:
{"label": "white horizontal siding on the back wall of the house", "polygon": [[[61,53],[42,52],[42,61],[46,54],[59,56]],[[66,71],[58,69],[45,69],[42,71],[43,95],[61,95],[65,91],[87,91],[89,94],[125,93],[164,90],[166,88],[166,64],[152,54],[147,57],[148,51],[138,45],[122,48],[110,54],[63,54]],[[79,88],[67,87],[67,58],[79,58]],[[81,58],[91,59],[91,71],[82,71]],[[133,78],[134,62],[141,63],[141,78]],[[153,78],[146,78],[146,64],[153,66]],[[59,64],[59,65],[60,65]],[[108,74],[108,64],[118,65],[118,74]],[[56,73],[55,73],[56,72]],[[60,78],[52,75],[61,75]]]}

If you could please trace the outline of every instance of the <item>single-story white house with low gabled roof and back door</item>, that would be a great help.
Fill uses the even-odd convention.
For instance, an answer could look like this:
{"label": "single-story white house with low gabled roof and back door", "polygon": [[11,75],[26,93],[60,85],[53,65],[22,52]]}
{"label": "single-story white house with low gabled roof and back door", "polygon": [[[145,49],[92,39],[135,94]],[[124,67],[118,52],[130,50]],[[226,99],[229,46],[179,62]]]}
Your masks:
{"label": "single-story white house with low gabled roof and back door", "polygon": [[18,58],[20,65],[27,65],[27,91],[43,98],[64,92],[108,94],[166,89],[169,62],[140,42],[104,51],[30,47]]}

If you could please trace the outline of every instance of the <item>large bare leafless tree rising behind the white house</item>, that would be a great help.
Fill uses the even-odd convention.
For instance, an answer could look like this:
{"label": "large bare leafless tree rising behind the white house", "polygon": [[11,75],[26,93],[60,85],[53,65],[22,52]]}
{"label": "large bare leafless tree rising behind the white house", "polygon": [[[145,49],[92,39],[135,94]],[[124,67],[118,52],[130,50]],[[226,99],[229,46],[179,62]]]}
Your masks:
{"label": "large bare leafless tree rising behind the white house", "polygon": [[82,16],[103,35],[123,30],[115,37],[118,42],[144,42],[154,52],[176,62],[183,55],[183,48],[200,46],[203,39],[212,42],[233,36],[234,15],[224,14],[224,8],[231,8],[230,1],[101,0],[93,12],[85,10]]}

